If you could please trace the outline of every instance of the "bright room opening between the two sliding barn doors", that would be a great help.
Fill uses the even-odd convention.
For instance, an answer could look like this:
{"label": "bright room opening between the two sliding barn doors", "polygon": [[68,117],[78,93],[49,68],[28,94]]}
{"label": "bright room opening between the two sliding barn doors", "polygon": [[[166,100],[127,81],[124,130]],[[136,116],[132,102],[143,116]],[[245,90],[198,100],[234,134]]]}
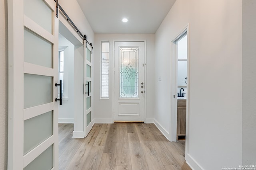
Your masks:
{"label": "bright room opening between the two sliding barn doors", "polygon": [[[84,49],[82,39],[77,39],[72,32],[59,22],[59,79],[63,80],[62,105],[59,106],[58,123],[74,125],[73,137],[77,131],[83,131],[83,83]],[[60,94],[58,94],[60,95]],[[77,121],[77,117],[81,117]],[[77,130],[81,129],[81,130]],[[81,134],[81,133],[80,133]]]}

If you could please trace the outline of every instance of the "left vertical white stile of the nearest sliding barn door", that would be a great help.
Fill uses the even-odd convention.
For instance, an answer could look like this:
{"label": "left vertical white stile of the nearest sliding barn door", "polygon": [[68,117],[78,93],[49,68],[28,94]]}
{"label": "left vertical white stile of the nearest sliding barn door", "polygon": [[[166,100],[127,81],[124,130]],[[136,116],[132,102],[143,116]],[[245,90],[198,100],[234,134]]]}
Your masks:
{"label": "left vertical white stile of the nearest sliding barn door", "polygon": [[[23,0],[8,0],[8,170],[23,167]],[[17,41],[18,40],[18,41]],[[22,44],[21,44],[22,43]],[[18,140],[17,140],[18,139]],[[22,142],[21,142],[22,141]]]}

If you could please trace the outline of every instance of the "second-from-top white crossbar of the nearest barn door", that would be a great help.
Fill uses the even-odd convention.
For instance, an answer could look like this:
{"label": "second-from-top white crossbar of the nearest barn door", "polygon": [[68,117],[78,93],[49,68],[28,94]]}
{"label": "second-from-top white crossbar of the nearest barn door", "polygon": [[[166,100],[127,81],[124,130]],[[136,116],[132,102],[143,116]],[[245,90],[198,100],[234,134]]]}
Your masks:
{"label": "second-from-top white crossbar of the nearest barn door", "polygon": [[53,77],[54,69],[24,62],[24,73]]}

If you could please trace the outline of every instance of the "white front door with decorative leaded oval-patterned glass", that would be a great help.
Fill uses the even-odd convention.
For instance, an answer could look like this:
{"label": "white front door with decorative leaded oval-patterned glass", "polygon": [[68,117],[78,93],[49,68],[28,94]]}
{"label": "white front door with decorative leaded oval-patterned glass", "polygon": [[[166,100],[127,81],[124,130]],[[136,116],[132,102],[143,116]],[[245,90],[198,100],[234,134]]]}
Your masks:
{"label": "white front door with decorative leaded oval-patterned glass", "polygon": [[114,61],[114,121],[144,121],[144,42],[115,42]]}

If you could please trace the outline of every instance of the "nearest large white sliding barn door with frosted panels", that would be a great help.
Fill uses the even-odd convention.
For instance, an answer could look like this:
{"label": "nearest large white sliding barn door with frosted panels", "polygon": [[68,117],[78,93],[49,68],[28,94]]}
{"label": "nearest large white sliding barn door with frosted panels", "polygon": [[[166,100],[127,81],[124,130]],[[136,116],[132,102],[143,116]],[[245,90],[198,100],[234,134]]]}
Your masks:
{"label": "nearest large white sliding barn door with frosted panels", "polygon": [[54,0],[8,0],[8,170],[58,170]]}

